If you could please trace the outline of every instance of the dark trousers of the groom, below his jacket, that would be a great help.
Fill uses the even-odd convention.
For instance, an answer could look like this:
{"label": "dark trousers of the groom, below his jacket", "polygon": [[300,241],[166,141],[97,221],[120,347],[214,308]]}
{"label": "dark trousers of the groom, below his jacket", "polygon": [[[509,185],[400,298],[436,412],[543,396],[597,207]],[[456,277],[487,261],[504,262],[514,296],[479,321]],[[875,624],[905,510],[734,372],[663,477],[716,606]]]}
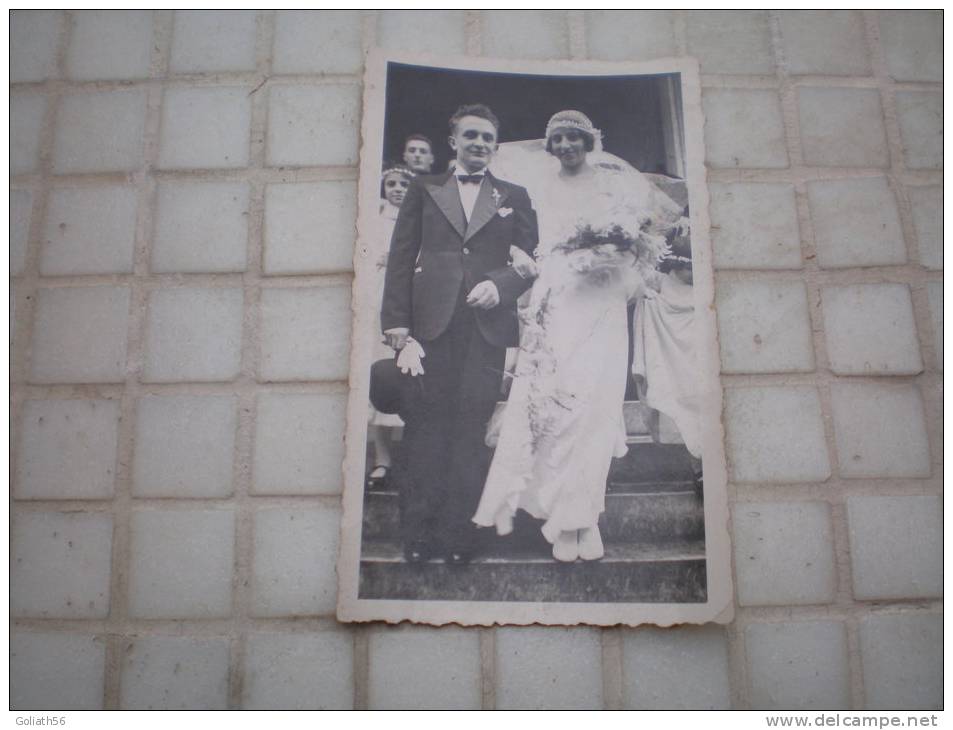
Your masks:
{"label": "dark trousers of the groom, below his jacket", "polygon": [[500,397],[506,350],[480,332],[461,287],[453,317],[436,339],[421,341],[424,374],[402,379],[404,435],[394,464],[405,544],[471,549],[489,470],[486,427]]}

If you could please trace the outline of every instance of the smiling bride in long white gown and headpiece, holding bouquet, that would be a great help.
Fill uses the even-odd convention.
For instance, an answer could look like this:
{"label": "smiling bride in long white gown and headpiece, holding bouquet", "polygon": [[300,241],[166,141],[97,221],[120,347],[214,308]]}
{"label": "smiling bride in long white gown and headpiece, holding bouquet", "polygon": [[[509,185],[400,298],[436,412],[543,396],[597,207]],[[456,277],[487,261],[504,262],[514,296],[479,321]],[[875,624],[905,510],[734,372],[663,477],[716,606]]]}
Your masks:
{"label": "smiling bride in long white gown and headpiece, holding bouquet", "polygon": [[553,557],[568,562],[604,554],[598,520],[606,478],[612,457],[627,451],[627,304],[644,291],[640,271],[665,251],[659,234],[680,217],[634,169],[590,162],[600,138],[574,110],[546,126],[546,151],[559,171],[530,187],[539,275],[520,315],[513,385],[473,517],[506,535],[524,509],[545,520]]}

